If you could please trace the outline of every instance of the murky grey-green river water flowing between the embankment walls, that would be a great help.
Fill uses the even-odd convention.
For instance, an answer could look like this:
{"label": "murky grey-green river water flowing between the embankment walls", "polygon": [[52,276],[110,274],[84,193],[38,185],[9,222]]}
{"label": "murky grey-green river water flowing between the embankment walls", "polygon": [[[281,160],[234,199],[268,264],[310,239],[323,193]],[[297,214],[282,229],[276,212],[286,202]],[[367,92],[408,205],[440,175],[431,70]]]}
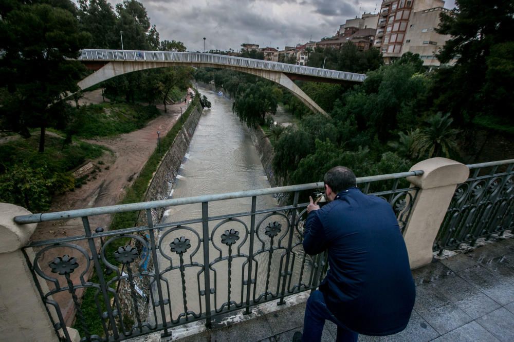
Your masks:
{"label": "murky grey-green river water flowing between the embankment walls", "polygon": [[[270,185],[249,133],[232,112],[232,101],[205,88],[198,90],[202,95],[208,97],[212,107],[204,110],[201,115],[173,186],[171,197],[269,188]],[[275,206],[277,206],[277,200],[273,196],[257,197],[257,210]],[[210,202],[208,206],[210,217],[249,212],[250,210],[251,198]],[[163,222],[180,222],[199,218],[201,214],[200,204],[172,207],[164,213]],[[244,255],[249,251],[250,217],[238,219],[240,221],[233,219],[219,228],[216,225],[222,223],[221,220],[209,222],[209,233],[212,234],[209,248],[210,287],[214,289],[214,294],[211,295],[211,310],[221,309],[222,304],[229,301],[229,292],[230,301],[234,301],[235,304],[246,300],[247,290],[243,281],[246,281],[248,277],[248,257]],[[263,219],[263,223],[259,225],[261,219]],[[256,279],[255,293],[257,296],[265,292],[266,284],[268,284],[269,292],[277,293],[279,278],[277,275],[280,256],[283,253],[279,253],[282,252],[280,250],[269,257],[265,248],[269,247],[270,242],[269,239],[265,239],[268,236],[264,235],[265,225],[275,221],[283,224],[283,227],[287,226],[285,218],[280,214],[270,217],[257,215],[255,219],[258,231],[256,235],[259,236],[255,236],[253,250],[254,252],[258,249],[263,251],[253,258],[253,270],[257,270],[257,276],[252,274],[252,278]],[[222,234],[227,230],[230,232],[230,229],[237,231],[239,236],[236,243],[231,246],[231,251],[228,250],[228,245],[223,244],[222,240]],[[274,246],[277,246],[278,239],[284,237],[285,234],[282,234],[286,231],[287,229],[282,229],[274,241]],[[200,295],[200,291],[205,288],[204,273],[201,267],[204,264],[201,236],[201,224],[171,227],[160,233],[159,267],[161,272],[164,271],[163,278],[168,282],[167,287],[170,289],[170,293],[165,296],[171,298],[172,319],[177,319],[180,313],[185,312],[186,307],[188,311],[198,313],[201,305],[201,311],[205,311],[205,296]],[[183,254],[182,261],[180,261],[180,255],[177,254],[179,251],[177,246],[181,245],[181,237],[189,239],[189,242],[185,244],[187,251]],[[282,241],[282,245],[284,244],[287,245],[286,236]],[[231,260],[228,260],[229,253],[233,256]],[[220,255],[222,258],[216,260]],[[183,268],[179,267],[181,262]],[[181,269],[183,270],[184,284],[182,284]],[[268,278],[267,281],[266,278]],[[253,289],[254,286],[252,286],[252,291]],[[183,292],[186,293],[186,302],[183,300]],[[253,294],[252,298],[254,298]],[[170,318],[169,309],[167,309],[168,319]]]}

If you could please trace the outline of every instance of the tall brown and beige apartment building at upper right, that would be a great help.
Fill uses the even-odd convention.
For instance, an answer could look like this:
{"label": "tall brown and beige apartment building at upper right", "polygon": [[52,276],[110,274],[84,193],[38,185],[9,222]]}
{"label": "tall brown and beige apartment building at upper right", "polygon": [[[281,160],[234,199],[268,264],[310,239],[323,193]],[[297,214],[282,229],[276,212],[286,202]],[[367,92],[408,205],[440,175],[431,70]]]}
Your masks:
{"label": "tall brown and beige apartment building at upper right", "polygon": [[[439,24],[438,13],[444,10],[444,5],[443,0],[384,0],[374,44],[382,52],[384,63],[390,64],[408,51],[420,51],[426,56],[424,65],[438,66],[437,47],[444,45],[448,37],[435,33],[434,29]],[[419,28],[426,31],[418,32]],[[424,36],[427,32],[431,34]]]}

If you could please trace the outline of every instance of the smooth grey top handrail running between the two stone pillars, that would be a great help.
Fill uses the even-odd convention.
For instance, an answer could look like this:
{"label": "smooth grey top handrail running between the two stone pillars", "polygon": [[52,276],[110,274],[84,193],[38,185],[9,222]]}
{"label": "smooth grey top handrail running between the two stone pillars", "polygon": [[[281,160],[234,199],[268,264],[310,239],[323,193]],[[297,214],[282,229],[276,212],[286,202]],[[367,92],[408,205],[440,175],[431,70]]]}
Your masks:
{"label": "smooth grey top handrail running between the two stone pillars", "polygon": [[[388,179],[404,178],[404,177],[409,177],[409,176],[419,176],[422,174],[423,174],[423,171],[419,170],[419,171],[383,174],[383,175],[369,176],[369,177],[360,177],[360,178],[357,178],[357,184],[376,182],[378,180],[388,180]],[[281,192],[295,192],[295,191],[303,191],[303,190],[310,190],[310,189],[319,189],[319,188],[323,188],[323,187],[324,187],[324,183],[319,182],[319,183],[309,183],[309,184],[300,184],[300,185],[290,185],[290,186],[277,187],[277,188],[227,192],[227,193],[214,194],[214,195],[161,199],[161,200],[154,200],[154,201],[150,201],[150,202],[121,204],[121,205],[115,205],[115,206],[105,206],[105,207],[96,207],[96,208],[87,208],[87,209],[56,211],[56,212],[51,212],[51,213],[21,215],[21,216],[14,217],[14,222],[17,224],[24,225],[24,224],[29,224],[29,223],[39,223],[39,222],[52,221],[52,220],[58,220],[58,219],[68,219],[68,218],[103,215],[103,214],[114,214],[114,213],[118,213],[118,212],[172,207],[172,206],[179,206],[179,205],[185,205],[185,204],[214,202],[217,200],[224,200],[224,199],[271,195],[271,194],[276,194],[276,193],[281,193]]]}

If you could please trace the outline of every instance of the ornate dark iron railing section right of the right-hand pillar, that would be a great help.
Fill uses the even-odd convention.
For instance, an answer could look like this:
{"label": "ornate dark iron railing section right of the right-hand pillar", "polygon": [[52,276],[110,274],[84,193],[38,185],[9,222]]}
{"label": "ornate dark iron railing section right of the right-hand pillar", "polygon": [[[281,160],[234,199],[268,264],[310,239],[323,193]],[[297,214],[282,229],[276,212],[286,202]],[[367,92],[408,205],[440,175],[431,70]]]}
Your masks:
{"label": "ornate dark iron railing section right of the right-hand pillar", "polygon": [[434,241],[439,254],[514,228],[514,159],[467,166],[470,177],[457,186]]}

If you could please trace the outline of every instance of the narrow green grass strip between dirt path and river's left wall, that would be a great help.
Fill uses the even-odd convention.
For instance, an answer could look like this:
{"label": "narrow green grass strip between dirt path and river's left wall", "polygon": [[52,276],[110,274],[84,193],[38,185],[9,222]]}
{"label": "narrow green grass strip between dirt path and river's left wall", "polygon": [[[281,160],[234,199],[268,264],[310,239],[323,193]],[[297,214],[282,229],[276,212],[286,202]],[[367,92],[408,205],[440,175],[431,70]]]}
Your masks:
{"label": "narrow green grass strip between dirt path and river's left wall", "polygon": [[[159,166],[159,163],[166,154],[166,152],[171,148],[173,141],[177,134],[182,129],[183,124],[186,122],[187,118],[191,114],[192,110],[196,108],[199,102],[199,96],[195,96],[193,102],[189,105],[188,109],[182,114],[180,120],[173,126],[173,128],[168,132],[166,137],[161,139],[161,148],[160,151],[158,149],[155,149],[154,153],[150,156],[148,159],[148,162],[144,165],[143,169],[139,173],[139,176],[136,178],[134,184],[131,188],[127,190],[127,193],[120,204],[127,204],[127,203],[136,203],[136,202],[142,202],[144,200],[144,196],[146,194],[146,190],[148,189],[148,185],[150,183],[150,180],[152,179],[152,176],[154,172],[157,170],[157,167]],[[123,228],[130,228],[134,227],[137,224],[139,212],[137,211],[131,211],[131,212],[123,212],[123,213],[117,213],[114,215],[111,225],[109,226],[109,230],[117,230],[117,229],[123,229]],[[116,260],[114,260],[114,252],[120,247],[125,246],[128,243],[130,243],[130,238],[121,238],[110,244],[105,252],[105,256],[109,263],[113,265],[119,265]],[[111,275],[105,275],[104,277],[106,281],[111,280],[115,274]],[[94,273],[93,276],[90,279],[93,283],[98,283],[98,274]],[[84,314],[86,324],[88,327],[88,330],[91,334],[96,334],[99,336],[103,335],[103,327],[102,327],[102,320],[98,314],[96,301],[95,301],[95,288],[88,288],[84,296],[82,298],[82,305],[81,309]],[[105,306],[103,305],[103,302],[101,304],[102,312],[106,311]],[[124,320],[125,321],[125,320]],[[82,329],[81,323],[76,320],[74,324],[74,328],[77,329],[81,336],[84,335],[84,331]]]}

